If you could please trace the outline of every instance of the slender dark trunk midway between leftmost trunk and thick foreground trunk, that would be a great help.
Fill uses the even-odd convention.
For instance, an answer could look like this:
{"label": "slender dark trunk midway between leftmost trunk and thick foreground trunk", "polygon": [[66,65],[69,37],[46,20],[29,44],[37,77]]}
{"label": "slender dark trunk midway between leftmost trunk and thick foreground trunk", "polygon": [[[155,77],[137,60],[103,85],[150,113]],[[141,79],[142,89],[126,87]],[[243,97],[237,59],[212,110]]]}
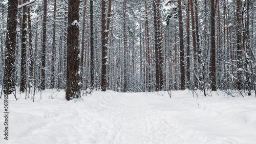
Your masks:
{"label": "slender dark trunk midway between leftmost trunk and thick foreground trunk", "polygon": [[46,89],[46,20],[47,20],[47,0],[44,0],[44,19],[42,22],[42,52],[41,52],[41,89]]}

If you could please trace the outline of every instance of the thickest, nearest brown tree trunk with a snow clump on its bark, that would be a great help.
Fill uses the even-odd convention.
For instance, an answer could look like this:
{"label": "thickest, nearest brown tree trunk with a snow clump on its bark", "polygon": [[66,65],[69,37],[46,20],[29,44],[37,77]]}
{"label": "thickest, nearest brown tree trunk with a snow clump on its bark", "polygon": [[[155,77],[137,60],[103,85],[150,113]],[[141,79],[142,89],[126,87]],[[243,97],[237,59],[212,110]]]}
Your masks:
{"label": "thickest, nearest brown tree trunk with a snow clump on its bark", "polygon": [[80,98],[79,85],[79,0],[69,0],[66,99]]}

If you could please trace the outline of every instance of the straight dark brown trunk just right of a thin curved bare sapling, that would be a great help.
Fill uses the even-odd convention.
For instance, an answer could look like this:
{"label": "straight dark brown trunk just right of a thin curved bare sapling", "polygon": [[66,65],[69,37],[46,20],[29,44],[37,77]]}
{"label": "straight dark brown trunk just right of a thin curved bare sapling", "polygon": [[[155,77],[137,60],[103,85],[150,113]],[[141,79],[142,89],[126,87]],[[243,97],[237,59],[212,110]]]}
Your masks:
{"label": "straight dark brown trunk just right of a thin curved bare sapling", "polygon": [[215,0],[210,1],[210,87],[216,91]]}

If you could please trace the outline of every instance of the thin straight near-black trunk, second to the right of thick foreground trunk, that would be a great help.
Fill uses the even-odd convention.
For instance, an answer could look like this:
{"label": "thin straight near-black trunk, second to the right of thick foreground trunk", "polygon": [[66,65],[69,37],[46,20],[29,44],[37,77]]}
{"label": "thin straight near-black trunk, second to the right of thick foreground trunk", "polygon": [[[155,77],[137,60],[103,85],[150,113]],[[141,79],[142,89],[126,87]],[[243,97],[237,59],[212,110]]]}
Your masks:
{"label": "thin straight near-black trunk, second to the right of thick foreground trunk", "polygon": [[91,90],[94,88],[94,37],[93,37],[93,0],[90,1],[90,29],[91,29]]}

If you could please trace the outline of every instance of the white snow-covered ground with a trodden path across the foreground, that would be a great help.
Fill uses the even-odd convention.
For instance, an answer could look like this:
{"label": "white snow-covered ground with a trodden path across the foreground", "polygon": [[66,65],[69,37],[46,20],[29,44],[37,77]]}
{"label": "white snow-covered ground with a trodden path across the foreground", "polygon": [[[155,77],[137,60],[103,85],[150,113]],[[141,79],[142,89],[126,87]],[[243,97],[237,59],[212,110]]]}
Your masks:
{"label": "white snow-covered ground with a trodden path across the foreground", "polygon": [[254,96],[94,91],[68,102],[64,91],[46,90],[34,103],[18,98],[9,98],[9,140],[1,134],[0,143],[256,143]]}

